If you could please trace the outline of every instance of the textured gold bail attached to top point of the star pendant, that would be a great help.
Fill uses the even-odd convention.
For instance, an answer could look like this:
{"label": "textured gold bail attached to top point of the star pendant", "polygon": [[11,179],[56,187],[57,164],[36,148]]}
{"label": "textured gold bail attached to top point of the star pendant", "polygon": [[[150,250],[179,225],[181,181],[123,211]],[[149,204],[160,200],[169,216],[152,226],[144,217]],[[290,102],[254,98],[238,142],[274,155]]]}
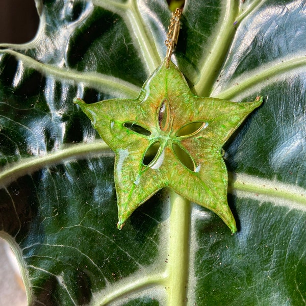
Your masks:
{"label": "textured gold bail attached to top point of the star pendant", "polygon": [[174,47],[177,44],[177,39],[179,39],[179,32],[180,32],[180,18],[182,15],[182,10],[181,9],[176,9],[172,13],[172,17],[170,20],[170,25],[168,27],[168,33],[167,33],[167,39],[165,40],[165,45],[167,46],[167,61],[166,61],[166,67],[169,67],[169,62],[171,55],[173,53]]}

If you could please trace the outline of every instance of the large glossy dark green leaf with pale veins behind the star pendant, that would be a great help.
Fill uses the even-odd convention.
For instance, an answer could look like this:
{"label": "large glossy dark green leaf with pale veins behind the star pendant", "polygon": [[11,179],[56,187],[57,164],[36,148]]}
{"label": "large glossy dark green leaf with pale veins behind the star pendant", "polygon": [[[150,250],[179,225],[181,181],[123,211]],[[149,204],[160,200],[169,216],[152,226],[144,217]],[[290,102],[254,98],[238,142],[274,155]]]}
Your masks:
{"label": "large glossy dark green leaf with pale veins behind the star pendant", "polygon": [[224,147],[234,235],[167,189],[118,231],[114,155],[73,104],[137,97],[166,53],[166,3],[36,3],[36,39],[0,53],[0,233],[30,304],[304,304],[304,2],[185,4],[174,61],[192,92],[265,97]]}

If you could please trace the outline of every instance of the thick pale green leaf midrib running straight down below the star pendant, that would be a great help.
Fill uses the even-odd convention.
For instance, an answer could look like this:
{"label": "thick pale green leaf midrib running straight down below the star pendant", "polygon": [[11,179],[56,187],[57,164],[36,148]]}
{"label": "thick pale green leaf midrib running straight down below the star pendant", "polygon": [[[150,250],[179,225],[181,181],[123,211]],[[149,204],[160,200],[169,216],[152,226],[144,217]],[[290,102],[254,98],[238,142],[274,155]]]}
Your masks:
{"label": "thick pale green leaf midrib running straight down below the star pendant", "polygon": [[170,192],[170,241],[166,289],[168,306],[184,306],[187,301],[190,202]]}

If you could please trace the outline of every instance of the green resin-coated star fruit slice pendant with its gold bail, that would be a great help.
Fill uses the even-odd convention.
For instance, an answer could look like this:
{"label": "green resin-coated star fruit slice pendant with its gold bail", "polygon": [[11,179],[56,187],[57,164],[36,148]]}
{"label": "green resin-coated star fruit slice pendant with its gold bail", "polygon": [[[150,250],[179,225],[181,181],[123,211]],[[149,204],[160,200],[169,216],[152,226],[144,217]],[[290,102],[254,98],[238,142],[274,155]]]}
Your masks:
{"label": "green resin-coated star fruit slice pendant with its gold bail", "polygon": [[235,103],[194,95],[170,60],[181,11],[171,18],[163,63],[136,99],[87,105],[77,98],[101,138],[115,152],[118,224],[164,187],[216,213],[237,231],[227,204],[227,170],[221,149],[243,120],[262,104]]}

